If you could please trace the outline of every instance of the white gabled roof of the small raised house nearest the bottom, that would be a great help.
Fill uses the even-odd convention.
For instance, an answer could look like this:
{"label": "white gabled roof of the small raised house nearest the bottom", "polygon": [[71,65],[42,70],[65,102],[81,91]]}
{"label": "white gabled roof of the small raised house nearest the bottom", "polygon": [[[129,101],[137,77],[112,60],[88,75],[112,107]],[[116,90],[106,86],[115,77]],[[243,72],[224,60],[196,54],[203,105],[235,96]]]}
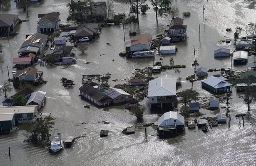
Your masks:
{"label": "white gabled roof of the small raised house nearest the bottom", "polygon": [[180,115],[178,112],[169,111],[169,112],[165,112],[164,115],[159,117],[158,126],[165,126],[164,121],[170,120],[170,119],[176,120],[176,123],[175,123],[176,125],[184,125],[185,124],[184,117],[182,115]]}

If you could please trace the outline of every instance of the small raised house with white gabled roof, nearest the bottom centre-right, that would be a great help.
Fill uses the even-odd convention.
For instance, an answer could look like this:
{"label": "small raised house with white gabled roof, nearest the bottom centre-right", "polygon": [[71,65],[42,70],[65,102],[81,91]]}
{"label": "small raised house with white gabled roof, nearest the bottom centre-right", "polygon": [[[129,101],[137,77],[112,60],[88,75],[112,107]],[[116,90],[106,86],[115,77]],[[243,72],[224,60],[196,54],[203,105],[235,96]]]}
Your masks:
{"label": "small raised house with white gabled roof, nearest the bottom centre-right", "polygon": [[178,112],[165,112],[158,119],[158,133],[160,136],[184,131],[185,120]]}

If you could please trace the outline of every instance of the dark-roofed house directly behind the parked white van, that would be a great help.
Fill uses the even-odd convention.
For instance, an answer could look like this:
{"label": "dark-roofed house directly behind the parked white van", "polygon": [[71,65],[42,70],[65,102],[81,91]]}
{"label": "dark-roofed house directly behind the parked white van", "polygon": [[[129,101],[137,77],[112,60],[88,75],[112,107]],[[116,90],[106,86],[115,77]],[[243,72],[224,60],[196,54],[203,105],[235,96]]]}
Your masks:
{"label": "dark-roofed house directly behind the parked white van", "polygon": [[77,27],[77,30],[74,34],[74,38],[79,40],[83,37],[88,37],[89,41],[92,41],[92,39],[95,39],[97,33],[99,31],[99,24],[97,23],[84,23],[80,24]]}

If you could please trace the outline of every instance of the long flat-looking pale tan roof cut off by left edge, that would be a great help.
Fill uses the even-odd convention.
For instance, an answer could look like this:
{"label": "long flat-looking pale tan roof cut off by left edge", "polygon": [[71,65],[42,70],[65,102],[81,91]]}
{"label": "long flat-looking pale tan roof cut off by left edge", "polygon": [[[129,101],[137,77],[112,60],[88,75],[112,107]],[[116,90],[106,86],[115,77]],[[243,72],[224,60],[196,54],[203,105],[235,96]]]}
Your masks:
{"label": "long flat-looking pale tan roof cut off by left edge", "polygon": [[25,106],[14,106],[14,107],[0,107],[0,114],[7,113],[33,113],[35,110],[37,111],[37,105],[25,105]]}

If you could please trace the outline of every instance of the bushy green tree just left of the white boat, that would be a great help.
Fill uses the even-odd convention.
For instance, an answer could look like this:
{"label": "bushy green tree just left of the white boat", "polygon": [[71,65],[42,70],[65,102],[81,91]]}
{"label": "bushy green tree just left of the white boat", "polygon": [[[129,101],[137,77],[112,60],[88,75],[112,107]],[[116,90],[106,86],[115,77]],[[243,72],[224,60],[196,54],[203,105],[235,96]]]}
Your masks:
{"label": "bushy green tree just left of the white boat", "polygon": [[55,124],[54,120],[55,118],[49,116],[35,124],[22,123],[21,129],[24,129],[25,131],[23,135],[27,137],[28,142],[36,145],[40,144],[49,138],[50,129]]}

